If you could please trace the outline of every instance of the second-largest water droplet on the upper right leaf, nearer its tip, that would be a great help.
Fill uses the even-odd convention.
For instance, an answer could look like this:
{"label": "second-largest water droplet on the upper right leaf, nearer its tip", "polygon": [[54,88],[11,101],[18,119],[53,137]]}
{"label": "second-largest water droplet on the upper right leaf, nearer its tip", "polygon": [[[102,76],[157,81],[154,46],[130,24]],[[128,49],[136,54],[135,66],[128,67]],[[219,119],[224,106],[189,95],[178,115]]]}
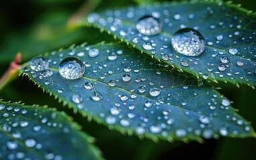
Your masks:
{"label": "second-largest water droplet on the upper right leaf, nearer its tip", "polygon": [[161,25],[157,19],[147,15],[139,19],[136,29],[143,35],[157,35],[161,32]]}

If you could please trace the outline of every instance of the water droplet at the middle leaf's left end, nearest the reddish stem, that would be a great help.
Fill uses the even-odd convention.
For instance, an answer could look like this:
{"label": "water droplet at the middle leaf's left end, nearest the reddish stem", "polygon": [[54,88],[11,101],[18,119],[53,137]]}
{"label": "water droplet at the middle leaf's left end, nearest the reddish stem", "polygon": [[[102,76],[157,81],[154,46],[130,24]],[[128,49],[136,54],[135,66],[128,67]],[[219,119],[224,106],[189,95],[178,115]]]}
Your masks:
{"label": "water droplet at the middle leaf's left end, nearest the reddish stem", "polygon": [[31,69],[34,71],[44,71],[49,68],[49,63],[43,57],[36,57],[29,61]]}

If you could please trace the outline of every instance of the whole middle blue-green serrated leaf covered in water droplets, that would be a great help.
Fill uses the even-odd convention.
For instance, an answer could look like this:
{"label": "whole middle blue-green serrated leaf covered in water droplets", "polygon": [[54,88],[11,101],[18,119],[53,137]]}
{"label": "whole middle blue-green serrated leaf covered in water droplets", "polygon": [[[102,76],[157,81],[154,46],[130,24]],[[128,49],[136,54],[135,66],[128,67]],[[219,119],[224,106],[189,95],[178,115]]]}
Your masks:
{"label": "whole middle blue-green serrated leaf covered in water droplets", "polygon": [[169,141],[254,135],[220,93],[125,45],[52,51],[31,59],[21,72],[88,119],[128,134]]}

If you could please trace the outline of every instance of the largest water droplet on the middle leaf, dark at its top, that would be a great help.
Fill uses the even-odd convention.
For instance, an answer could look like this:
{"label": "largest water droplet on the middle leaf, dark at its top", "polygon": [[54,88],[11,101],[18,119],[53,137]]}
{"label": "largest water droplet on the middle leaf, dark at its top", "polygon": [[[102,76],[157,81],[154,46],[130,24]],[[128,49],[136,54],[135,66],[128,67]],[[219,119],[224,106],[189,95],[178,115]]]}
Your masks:
{"label": "largest water droplet on the middle leaf, dark at its top", "polygon": [[84,74],[85,67],[82,61],[76,58],[66,58],[59,66],[59,73],[66,79],[78,79]]}

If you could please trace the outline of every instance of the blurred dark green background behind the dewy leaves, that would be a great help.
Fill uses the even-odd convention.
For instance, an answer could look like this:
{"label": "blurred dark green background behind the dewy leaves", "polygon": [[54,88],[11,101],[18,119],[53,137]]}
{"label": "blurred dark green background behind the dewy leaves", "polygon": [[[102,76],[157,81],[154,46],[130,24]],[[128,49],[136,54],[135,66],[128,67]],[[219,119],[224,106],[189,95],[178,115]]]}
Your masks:
{"label": "blurred dark green background behind the dewy leaves", "polygon": [[[69,47],[76,43],[88,44],[101,41],[114,41],[106,33],[99,33],[93,28],[70,28],[68,21],[79,15],[80,10],[101,10],[127,5],[152,3],[153,0],[4,0],[0,5],[0,75],[3,75],[16,53],[21,51],[23,62],[31,57]],[[243,7],[255,11],[254,0],[235,0]],[[87,7],[86,7],[87,6]],[[234,101],[233,107],[245,119],[252,121],[256,129],[255,90],[247,86],[240,89],[227,84],[220,93]],[[82,125],[82,129],[97,139],[96,145],[103,151],[105,159],[255,159],[256,139],[209,139],[203,144],[198,142],[154,143],[148,139],[121,135],[110,131],[107,127],[95,122],[88,122],[81,115],[74,114],[67,107],[62,107],[54,97],[43,93],[27,77],[19,77],[0,91],[0,99],[4,101],[22,101],[27,105],[39,104],[56,107],[66,111]],[[47,101],[46,101],[47,99]]]}

